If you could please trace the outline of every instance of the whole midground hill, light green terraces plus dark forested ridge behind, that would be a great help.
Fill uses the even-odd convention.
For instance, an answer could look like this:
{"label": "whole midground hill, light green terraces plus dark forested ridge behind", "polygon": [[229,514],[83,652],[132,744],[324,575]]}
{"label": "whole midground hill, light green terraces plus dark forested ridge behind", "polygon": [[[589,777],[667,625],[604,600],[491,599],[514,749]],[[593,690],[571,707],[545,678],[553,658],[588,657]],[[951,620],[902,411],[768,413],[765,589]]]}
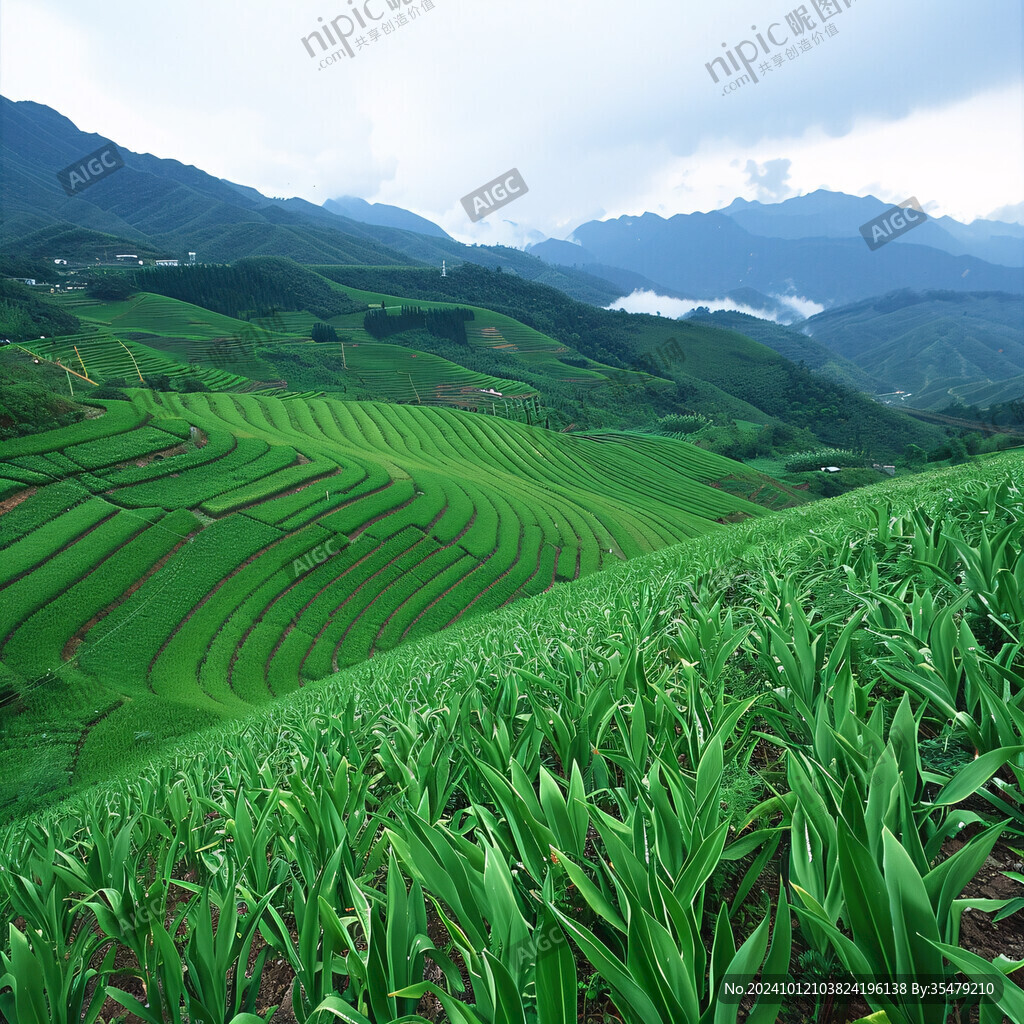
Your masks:
{"label": "whole midground hill, light green terraces plus dark forested ridge behind", "polygon": [[[559,430],[662,432],[667,417],[699,415],[709,422],[696,442],[739,459],[826,446],[891,462],[909,444],[932,451],[944,439],[940,427],[706,322],[596,309],[515,274],[475,266],[446,278],[396,267],[317,270],[256,259],[233,267],[132,271],[133,280],[176,297],[55,296],[56,307],[77,316],[80,329],[47,337],[43,347],[33,342],[32,351],[97,383],[110,377],[128,383],[140,373],[139,383],[147,374],[193,377],[211,390],[475,408]],[[380,287],[367,287],[374,284]],[[382,306],[389,315],[407,306],[459,308],[472,319],[461,341],[407,330],[381,342],[364,321]],[[312,343],[322,321],[335,330],[338,344]],[[824,351],[804,341],[812,354]],[[354,350],[371,343],[422,357],[398,349]],[[790,345],[787,351],[803,349]],[[527,395],[528,410],[519,400]],[[516,400],[509,403],[510,396]],[[737,422],[758,425],[760,433],[744,438]]]}

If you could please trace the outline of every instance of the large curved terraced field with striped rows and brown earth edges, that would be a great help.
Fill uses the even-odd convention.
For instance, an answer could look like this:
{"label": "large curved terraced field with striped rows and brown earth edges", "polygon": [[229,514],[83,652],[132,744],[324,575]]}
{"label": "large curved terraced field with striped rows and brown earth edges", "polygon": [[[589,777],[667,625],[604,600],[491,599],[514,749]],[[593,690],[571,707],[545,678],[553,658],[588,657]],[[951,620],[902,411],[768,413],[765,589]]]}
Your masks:
{"label": "large curved terraced field with striped rows and brown earth edges", "polygon": [[126,737],[144,751],[798,500],[668,438],[374,402],[106,402],[0,445],[2,804],[104,777]]}

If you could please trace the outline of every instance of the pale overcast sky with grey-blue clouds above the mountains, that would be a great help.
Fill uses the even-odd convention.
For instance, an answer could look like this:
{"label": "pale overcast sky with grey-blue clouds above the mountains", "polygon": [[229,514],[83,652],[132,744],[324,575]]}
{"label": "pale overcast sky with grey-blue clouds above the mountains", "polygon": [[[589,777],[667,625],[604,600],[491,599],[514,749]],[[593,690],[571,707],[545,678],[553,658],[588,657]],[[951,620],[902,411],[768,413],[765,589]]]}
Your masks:
{"label": "pale overcast sky with grey-blue clouds above the mountains", "polygon": [[[1021,0],[831,0],[824,26],[812,0],[400,2],[385,34],[399,0],[3,0],[0,92],[269,196],[391,203],[464,242],[817,188],[1024,222]],[[355,4],[379,20],[338,20]],[[802,6],[816,28],[798,36]],[[309,55],[318,19],[352,26],[352,56]],[[756,53],[758,81],[719,62],[716,84],[706,65],[729,53]],[[528,195],[470,222],[460,199],[512,167]]]}

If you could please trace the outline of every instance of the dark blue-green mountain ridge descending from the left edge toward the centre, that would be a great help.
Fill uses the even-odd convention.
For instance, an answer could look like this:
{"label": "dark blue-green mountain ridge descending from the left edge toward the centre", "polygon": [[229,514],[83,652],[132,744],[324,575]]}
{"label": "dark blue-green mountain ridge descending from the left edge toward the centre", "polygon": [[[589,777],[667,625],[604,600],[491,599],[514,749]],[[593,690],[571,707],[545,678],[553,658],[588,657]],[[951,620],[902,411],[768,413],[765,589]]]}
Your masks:
{"label": "dark blue-green mountain ridge descending from the left edge toward the centre", "polygon": [[[446,259],[450,265],[501,266],[596,305],[622,294],[618,286],[593,273],[555,267],[515,249],[464,246],[443,232],[436,234],[436,225],[424,234],[360,222],[305,200],[270,199],[179,161],[122,146],[121,170],[68,196],[57,172],[116,140],[79,131],[42,103],[0,97],[0,139],[3,251],[8,254],[27,255],[31,249],[39,258],[91,261],[104,252],[183,258],[194,251],[207,262],[286,256],[300,263],[438,267]],[[394,217],[411,223],[408,218],[415,215]],[[44,248],[55,240],[77,248]]]}

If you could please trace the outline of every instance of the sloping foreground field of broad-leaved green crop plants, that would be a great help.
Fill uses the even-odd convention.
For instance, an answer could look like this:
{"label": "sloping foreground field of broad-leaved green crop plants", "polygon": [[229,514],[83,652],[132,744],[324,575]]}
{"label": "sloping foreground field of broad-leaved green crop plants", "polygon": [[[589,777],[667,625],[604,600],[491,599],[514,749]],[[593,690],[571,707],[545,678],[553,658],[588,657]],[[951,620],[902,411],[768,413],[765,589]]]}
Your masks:
{"label": "sloping foreground field of broad-leaved green crop plants", "polygon": [[[0,1009],[1024,1020],[1022,475],[1008,455],[695,538],[9,827]],[[805,994],[730,999],[758,972]],[[847,972],[891,986],[806,994]],[[910,988],[957,972],[980,1008]]]}

